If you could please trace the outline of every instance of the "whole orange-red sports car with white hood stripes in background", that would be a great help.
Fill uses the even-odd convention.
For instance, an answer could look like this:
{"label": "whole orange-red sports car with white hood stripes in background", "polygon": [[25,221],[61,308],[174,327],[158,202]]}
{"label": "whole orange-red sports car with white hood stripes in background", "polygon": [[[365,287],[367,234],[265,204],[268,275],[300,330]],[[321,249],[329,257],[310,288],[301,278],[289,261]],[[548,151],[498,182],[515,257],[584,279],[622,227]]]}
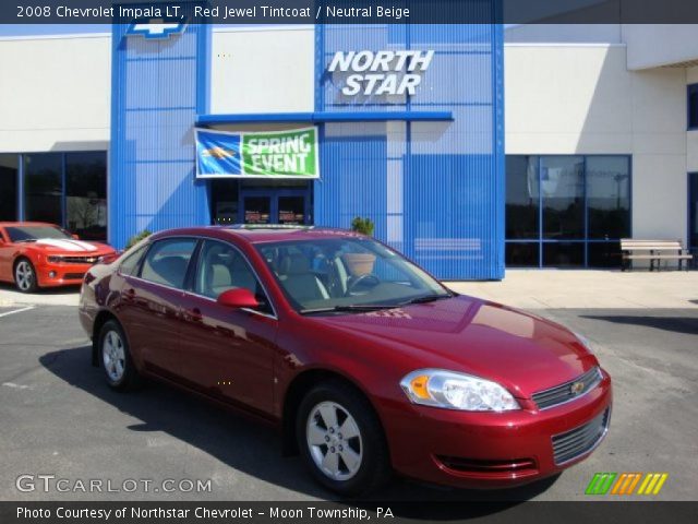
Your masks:
{"label": "whole orange-red sports car with white hood stripes in background", "polygon": [[93,264],[115,253],[52,224],[0,222],[0,281],[13,282],[22,293],[80,284]]}

